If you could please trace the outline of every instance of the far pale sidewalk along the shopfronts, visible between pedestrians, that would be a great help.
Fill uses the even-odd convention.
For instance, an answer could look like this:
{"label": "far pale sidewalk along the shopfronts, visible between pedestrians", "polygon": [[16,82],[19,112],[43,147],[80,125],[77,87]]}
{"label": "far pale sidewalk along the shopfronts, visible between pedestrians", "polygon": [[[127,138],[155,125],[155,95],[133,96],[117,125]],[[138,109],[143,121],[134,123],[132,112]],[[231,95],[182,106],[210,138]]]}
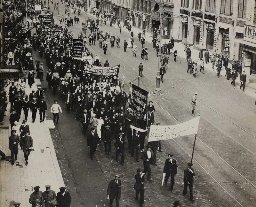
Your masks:
{"label": "far pale sidewalk along the shopfronts, visible between pedestrians", "polygon": [[[89,15],[91,15],[91,16],[96,18],[96,16],[93,15],[93,14],[90,14],[88,12],[87,12],[87,14],[89,14]],[[123,27],[124,22],[120,22],[120,23],[121,23],[121,26],[122,26],[121,33],[124,31],[124,32],[130,34],[130,32],[128,32],[126,27]],[[109,21],[107,21],[107,24],[109,24]],[[117,24],[112,24],[112,27],[116,27],[117,28]],[[141,34],[142,34],[142,30],[140,28],[138,28],[138,27],[132,27],[131,31],[133,31],[133,33],[134,33],[134,35],[133,35],[134,40],[137,41],[138,40],[137,39],[138,38],[137,35],[139,34],[139,32],[141,32]],[[146,31],[146,36],[144,38],[149,43],[151,43],[152,39],[153,39],[152,34],[148,33],[147,31]],[[164,44],[165,42],[167,44],[169,42],[169,39],[162,39],[162,44]],[[199,58],[198,58],[199,51],[194,49],[193,47],[189,47],[189,49],[191,50],[191,60],[192,61],[196,60],[197,61],[197,65],[199,66],[199,69],[200,69],[200,61],[199,61]],[[174,47],[173,47],[173,50],[171,50],[171,51],[173,52],[175,50],[177,50],[179,57],[182,57],[182,58],[185,59],[185,60],[182,60],[182,61],[186,61],[187,56],[186,56],[186,53],[184,51],[184,45],[181,42],[174,42]],[[204,51],[203,51],[203,55],[204,55]],[[172,53],[170,53],[169,58],[171,59],[172,57],[173,57],[173,55],[172,55]],[[177,61],[179,61],[179,58],[177,58]],[[232,67],[230,63],[228,63],[228,67],[230,67],[230,68]],[[204,63],[204,69],[212,71],[212,64],[211,64],[211,62],[208,62],[207,64]],[[214,73],[217,73],[217,68],[215,66],[214,66]],[[220,71],[220,75],[225,77],[226,70],[224,70],[224,68]],[[239,78],[239,76],[238,76],[238,78]],[[238,86],[238,85],[240,86],[240,82],[237,79],[236,80],[236,86]],[[250,76],[250,84],[248,84],[246,86],[249,87],[249,88],[252,88],[252,89],[256,89],[256,77],[254,75]]]}

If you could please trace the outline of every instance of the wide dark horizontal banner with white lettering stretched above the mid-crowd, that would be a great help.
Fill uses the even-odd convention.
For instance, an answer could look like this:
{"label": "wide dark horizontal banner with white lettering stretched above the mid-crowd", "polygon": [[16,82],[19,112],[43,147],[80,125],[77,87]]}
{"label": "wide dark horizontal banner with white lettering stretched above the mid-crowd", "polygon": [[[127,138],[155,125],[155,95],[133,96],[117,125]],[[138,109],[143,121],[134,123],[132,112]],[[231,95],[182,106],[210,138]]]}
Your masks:
{"label": "wide dark horizontal banner with white lettering stretched above the mid-crowd", "polygon": [[112,77],[113,79],[117,79],[119,68],[120,68],[120,64],[116,66],[110,66],[110,67],[102,67],[102,66],[88,65],[88,64],[84,65],[84,69],[86,73],[99,75],[99,76],[108,76],[108,77]]}

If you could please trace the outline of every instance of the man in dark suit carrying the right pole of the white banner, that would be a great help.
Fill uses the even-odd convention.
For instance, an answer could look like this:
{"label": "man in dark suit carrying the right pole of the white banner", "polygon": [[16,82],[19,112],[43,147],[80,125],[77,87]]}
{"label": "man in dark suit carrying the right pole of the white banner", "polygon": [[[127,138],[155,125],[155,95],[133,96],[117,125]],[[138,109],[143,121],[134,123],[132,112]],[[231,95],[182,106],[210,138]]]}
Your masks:
{"label": "man in dark suit carrying the right pole of the white banner", "polygon": [[187,195],[187,188],[189,188],[189,194],[190,194],[190,201],[194,201],[193,198],[193,181],[196,174],[194,173],[194,169],[192,168],[193,164],[188,163],[188,168],[184,170],[184,189],[183,189],[183,196],[186,197]]}

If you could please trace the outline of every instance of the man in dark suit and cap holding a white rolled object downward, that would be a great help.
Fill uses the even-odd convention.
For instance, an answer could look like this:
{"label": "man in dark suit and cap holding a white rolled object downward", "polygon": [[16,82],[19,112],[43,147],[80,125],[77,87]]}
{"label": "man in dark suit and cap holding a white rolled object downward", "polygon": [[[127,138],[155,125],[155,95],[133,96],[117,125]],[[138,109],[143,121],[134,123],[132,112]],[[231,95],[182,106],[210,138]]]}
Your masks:
{"label": "man in dark suit and cap holding a white rolled object downward", "polygon": [[164,164],[164,173],[166,173],[165,175],[165,179],[164,179],[164,183],[166,184],[168,181],[168,178],[171,175],[171,191],[173,192],[173,185],[174,185],[174,176],[177,174],[177,162],[175,159],[172,159],[173,155],[172,154],[168,154],[168,159],[165,160],[165,164]]}

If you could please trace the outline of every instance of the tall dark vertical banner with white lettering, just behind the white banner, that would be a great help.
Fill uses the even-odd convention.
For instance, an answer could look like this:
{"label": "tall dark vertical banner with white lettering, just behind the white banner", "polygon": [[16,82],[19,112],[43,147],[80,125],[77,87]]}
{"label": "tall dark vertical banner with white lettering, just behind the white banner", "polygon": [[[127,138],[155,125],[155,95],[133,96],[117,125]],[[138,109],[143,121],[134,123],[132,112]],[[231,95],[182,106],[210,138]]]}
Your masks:
{"label": "tall dark vertical banner with white lettering, just behind the white banner", "polygon": [[144,89],[132,84],[131,99],[131,112],[134,119],[132,126],[145,130],[147,129],[148,125],[148,91],[145,91]]}

